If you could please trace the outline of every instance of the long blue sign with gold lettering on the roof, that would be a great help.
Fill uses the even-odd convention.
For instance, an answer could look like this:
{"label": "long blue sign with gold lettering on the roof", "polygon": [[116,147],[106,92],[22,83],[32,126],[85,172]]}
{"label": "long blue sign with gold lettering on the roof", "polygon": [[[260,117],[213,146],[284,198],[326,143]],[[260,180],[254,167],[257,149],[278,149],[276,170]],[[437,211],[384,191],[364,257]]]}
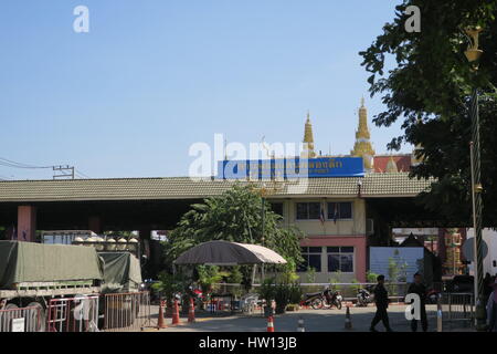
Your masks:
{"label": "long blue sign with gold lettering on the roof", "polygon": [[362,157],[276,158],[260,160],[219,162],[218,178],[269,179],[363,177]]}

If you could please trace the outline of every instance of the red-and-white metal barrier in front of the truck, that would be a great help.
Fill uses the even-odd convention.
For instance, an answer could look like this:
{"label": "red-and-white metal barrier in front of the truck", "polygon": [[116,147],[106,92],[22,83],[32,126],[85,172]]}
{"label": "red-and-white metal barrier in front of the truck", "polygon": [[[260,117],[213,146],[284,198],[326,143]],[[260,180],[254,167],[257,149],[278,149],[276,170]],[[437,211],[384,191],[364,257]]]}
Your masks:
{"label": "red-and-white metal barrier in front of the truck", "polygon": [[98,298],[50,300],[46,309],[47,332],[98,332]]}

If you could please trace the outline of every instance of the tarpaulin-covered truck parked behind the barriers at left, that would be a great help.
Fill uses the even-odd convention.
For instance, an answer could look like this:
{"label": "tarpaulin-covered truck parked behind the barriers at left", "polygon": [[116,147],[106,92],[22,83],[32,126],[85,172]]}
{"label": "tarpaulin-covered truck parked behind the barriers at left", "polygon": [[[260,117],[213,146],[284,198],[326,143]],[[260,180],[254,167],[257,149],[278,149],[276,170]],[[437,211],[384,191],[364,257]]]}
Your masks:
{"label": "tarpaulin-covered truck parked behind the barriers at left", "polygon": [[140,284],[139,261],[127,251],[0,241],[0,310],[35,306],[44,317],[51,299],[136,292]]}

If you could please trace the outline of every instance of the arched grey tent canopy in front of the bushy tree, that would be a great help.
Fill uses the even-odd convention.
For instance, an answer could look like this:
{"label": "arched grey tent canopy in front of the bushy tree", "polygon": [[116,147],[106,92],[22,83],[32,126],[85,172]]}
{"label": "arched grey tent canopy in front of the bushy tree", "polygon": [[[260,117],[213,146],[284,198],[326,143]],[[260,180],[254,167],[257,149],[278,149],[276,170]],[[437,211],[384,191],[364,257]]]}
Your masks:
{"label": "arched grey tent canopy in front of the bushy tree", "polygon": [[209,241],[181,254],[175,264],[285,264],[286,260],[268,248],[228,241]]}

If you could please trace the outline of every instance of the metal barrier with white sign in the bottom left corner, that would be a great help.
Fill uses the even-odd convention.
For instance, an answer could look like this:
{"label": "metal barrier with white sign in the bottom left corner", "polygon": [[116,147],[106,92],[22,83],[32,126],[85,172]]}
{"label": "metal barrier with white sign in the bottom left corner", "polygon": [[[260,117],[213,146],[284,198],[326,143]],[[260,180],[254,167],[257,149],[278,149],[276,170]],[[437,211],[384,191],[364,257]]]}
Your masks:
{"label": "metal barrier with white sign in the bottom left corner", "polygon": [[44,332],[40,306],[0,310],[0,332]]}

